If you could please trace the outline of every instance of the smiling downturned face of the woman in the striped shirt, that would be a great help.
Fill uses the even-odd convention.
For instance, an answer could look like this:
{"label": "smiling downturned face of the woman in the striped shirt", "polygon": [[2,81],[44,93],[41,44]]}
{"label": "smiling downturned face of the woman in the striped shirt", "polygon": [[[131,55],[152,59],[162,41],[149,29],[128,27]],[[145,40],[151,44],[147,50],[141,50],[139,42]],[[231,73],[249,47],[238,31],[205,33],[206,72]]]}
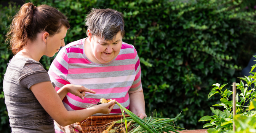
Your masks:
{"label": "smiling downturned face of the woman in the striped shirt", "polygon": [[93,36],[90,41],[93,55],[101,63],[109,63],[117,57],[122,47],[122,35],[120,32],[111,41],[106,41],[101,36]]}

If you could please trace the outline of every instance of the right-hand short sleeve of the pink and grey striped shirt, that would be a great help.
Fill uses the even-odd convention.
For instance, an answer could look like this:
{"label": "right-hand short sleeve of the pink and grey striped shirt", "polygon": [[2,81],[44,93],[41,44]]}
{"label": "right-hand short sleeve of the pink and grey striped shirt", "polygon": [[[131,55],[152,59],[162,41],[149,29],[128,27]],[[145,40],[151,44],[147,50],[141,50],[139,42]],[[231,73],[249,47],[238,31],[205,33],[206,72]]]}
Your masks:
{"label": "right-hand short sleeve of the pink and grey striped shirt", "polygon": [[142,85],[141,85],[141,63],[139,61],[139,56],[137,54],[136,49],[134,49],[134,64],[135,64],[135,79],[133,81],[133,84],[131,88],[129,89],[129,93],[134,93],[134,92],[139,92],[142,90]]}

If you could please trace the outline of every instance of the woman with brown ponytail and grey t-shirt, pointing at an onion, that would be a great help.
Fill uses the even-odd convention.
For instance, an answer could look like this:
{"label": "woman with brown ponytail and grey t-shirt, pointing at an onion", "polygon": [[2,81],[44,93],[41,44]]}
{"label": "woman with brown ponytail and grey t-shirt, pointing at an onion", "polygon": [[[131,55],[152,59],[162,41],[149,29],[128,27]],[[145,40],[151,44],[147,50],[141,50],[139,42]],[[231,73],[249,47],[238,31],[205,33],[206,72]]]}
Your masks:
{"label": "woman with brown ponytail and grey t-shirt, pointing at an onion", "polygon": [[38,62],[43,55],[52,57],[65,46],[69,28],[66,17],[47,5],[36,7],[26,3],[14,17],[6,39],[10,41],[14,57],[8,63],[3,81],[12,133],[54,133],[54,120],[66,126],[96,113],[108,114],[114,107],[112,101],[67,111],[62,103],[67,93],[83,100],[85,92],[96,92],[66,83],[56,92],[47,71]]}

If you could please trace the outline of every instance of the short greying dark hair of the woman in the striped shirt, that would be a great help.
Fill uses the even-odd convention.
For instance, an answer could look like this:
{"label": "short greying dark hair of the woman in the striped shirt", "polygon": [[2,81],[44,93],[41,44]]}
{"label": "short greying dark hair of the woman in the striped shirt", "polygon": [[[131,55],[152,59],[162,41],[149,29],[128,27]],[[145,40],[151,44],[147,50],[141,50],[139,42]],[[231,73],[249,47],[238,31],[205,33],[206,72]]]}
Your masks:
{"label": "short greying dark hair of the woman in the striped shirt", "polygon": [[122,37],[125,35],[123,14],[115,9],[92,8],[86,16],[85,25],[91,30],[92,36],[101,36],[106,41],[115,39],[118,32],[121,32]]}

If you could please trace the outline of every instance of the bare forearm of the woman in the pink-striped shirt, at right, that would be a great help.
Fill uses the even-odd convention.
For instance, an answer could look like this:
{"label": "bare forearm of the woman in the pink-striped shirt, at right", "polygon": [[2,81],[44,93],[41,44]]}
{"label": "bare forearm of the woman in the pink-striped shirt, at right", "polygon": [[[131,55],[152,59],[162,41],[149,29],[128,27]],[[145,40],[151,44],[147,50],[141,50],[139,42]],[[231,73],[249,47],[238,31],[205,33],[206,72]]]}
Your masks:
{"label": "bare forearm of the woman in the pink-striped shirt, at right", "polygon": [[145,113],[145,100],[143,89],[139,92],[129,94],[130,107],[129,110],[139,116],[141,119],[147,117]]}

